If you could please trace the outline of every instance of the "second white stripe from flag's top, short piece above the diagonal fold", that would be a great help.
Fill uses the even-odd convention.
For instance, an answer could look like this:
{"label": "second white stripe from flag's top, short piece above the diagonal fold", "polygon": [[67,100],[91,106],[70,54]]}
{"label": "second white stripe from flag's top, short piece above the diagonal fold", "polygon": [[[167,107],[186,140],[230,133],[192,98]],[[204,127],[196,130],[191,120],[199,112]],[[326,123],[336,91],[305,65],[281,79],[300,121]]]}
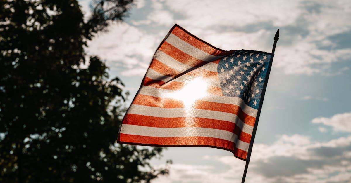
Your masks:
{"label": "second white stripe from flag's top, short piece above the diagonal fold", "polygon": [[191,66],[188,66],[184,63],[179,62],[176,59],[173,59],[171,56],[167,55],[166,53],[157,50],[155,55],[154,55],[154,59],[164,63],[166,66],[177,70],[179,73],[183,73],[186,72],[187,70],[193,68]]}

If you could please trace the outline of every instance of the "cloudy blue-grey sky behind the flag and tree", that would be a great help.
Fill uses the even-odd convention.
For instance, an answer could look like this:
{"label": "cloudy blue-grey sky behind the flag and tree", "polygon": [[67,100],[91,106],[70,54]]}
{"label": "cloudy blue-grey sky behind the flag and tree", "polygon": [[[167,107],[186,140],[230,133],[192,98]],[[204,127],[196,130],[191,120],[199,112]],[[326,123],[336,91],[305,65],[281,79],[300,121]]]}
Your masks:
{"label": "cloudy blue-grey sky behind the flag and tree", "polygon": [[[89,15],[89,0],[80,0]],[[351,182],[351,2],[348,0],[138,0],[125,22],[88,42],[137,92],[175,23],[224,50],[271,52],[280,29],[246,182]],[[118,132],[116,132],[118,133]],[[245,161],[229,151],[171,147],[153,183],[240,182]]]}

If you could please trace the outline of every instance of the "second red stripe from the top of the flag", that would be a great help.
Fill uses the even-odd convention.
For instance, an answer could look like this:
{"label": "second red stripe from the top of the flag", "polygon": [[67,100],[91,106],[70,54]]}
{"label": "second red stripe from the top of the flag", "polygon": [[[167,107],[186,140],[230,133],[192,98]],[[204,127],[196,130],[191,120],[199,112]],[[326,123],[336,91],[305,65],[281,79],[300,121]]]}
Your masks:
{"label": "second red stripe from the top of the flag", "polygon": [[182,52],[180,49],[172,46],[168,42],[164,42],[158,50],[166,53],[167,55],[171,56],[173,59],[178,60],[179,62],[184,63],[184,64],[191,66],[191,67],[197,67],[197,66],[204,65],[205,63],[207,63],[205,61],[199,60],[195,57],[192,57],[192,56]]}

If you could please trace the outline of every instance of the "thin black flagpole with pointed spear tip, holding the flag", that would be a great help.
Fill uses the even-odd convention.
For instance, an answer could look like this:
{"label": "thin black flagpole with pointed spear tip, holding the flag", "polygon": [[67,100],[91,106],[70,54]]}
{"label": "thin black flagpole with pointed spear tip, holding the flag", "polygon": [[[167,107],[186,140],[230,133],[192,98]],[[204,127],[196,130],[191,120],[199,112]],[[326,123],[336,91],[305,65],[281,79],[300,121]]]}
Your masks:
{"label": "thin black flagpole with pointed spear tip, holding the flag", "polygon": [[276,45],[277,45],[277,41],[278,40],[279,40],[279,29],[278,29],[276,35],[274,35],[274,44],[273,44],[273,49],[272,49],[272,54],[271,54],[271,60],[270,60],[269,65],[268,65],[267,75],[266,75],[265,82],[264,82],[265,84],[264,84],[263,89],[262,89],[262,95],[261,95],[261,99],[260,99],[260,104],[258,106],[258,112],[257,112],[257,116],[256,116],[255,125],[254,125],[253,131],[252,131],[252,136],[251,136],[251,141],[250,141],[250,145],[249,145],[249,150],[247,150],[246,164],[245,164],[243,179],[241,179],[241,183],[245,183],[245,177],[246,177],[247,168],[249,167],[253,141],[255,140],[258,120],[260,118],[261,108],[262,108],[262,104],[263,104],[263,98],[264,98],[264,94],[266,92],[268,77],[269,77],[269,73],[271,72],[271,67],[272,67],[272,62],[273,62],[273,57],[274,57],[274,51],[276,50]]}

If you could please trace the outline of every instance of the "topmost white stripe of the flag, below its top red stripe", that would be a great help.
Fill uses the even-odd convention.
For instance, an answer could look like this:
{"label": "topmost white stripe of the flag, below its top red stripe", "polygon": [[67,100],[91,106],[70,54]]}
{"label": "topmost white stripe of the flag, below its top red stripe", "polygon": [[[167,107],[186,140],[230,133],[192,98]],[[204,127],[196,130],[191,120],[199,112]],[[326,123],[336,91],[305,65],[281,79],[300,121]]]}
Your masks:
{"label": "topmost white stripe of the flag, below its top red stripe", "polygon": [[200,50],[189,43],[185,42],[184,40],[178,38],[174,34],[170,34],[168,38],[166,39],[166,42],[170,43],[172,46],[180,49],[182,52],[195,57],[199,60],[210,62],[219,59],[222,56],[213,56],[210,55],[203,50]]}

